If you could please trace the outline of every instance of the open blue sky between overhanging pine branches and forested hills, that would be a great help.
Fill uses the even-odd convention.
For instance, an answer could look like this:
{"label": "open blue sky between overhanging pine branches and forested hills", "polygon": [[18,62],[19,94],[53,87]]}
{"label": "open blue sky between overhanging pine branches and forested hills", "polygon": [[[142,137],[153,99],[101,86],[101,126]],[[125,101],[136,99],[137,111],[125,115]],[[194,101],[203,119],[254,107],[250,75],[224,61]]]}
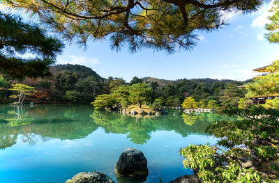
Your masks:
{"label": "open blue sky between overhanging pine branches and forested hills", "polygon": [[[272,1],[271,1],[272,3]],[[269,65],[279,59],[279,44],[264,38],[264,24],[271,3],[257,13],[229,13],[224,29],[199,33],[200,40],[193,51],[167,55],[165,51],[143,50],[129,54],[127,49],[116,53],[110,42],[88,42],[88,48],[66,45],[57,63],[72,63],[91,67],[101,77],[122,77],[130,81],[137,77],[160,79],[236,79],[255,76],[252,69]]]}

